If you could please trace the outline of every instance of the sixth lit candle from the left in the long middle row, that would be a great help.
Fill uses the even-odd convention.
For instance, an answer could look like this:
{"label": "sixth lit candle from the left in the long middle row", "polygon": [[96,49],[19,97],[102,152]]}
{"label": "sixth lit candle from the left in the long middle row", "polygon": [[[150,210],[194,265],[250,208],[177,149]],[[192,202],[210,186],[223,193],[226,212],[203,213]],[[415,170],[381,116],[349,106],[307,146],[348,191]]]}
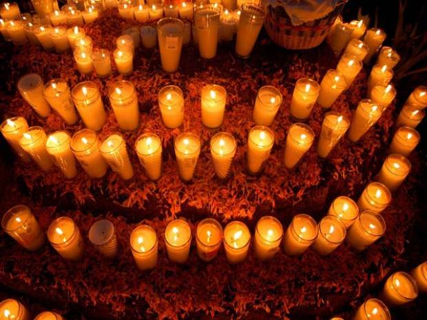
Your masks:
{"label": "sixth lit candle from the left in the long middle row", "polygon": [[135,142],[135,149],[145,175],[158,180],[162,174],[162,141],[156,134],[142,134]]}

